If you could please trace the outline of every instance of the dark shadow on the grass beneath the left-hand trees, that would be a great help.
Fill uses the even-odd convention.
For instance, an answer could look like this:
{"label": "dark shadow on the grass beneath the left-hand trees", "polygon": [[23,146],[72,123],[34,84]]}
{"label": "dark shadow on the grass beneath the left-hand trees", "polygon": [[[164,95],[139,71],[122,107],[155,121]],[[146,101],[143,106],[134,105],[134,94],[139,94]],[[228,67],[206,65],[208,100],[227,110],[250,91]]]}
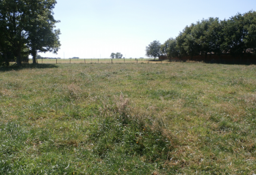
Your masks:
{"label": "dark shadow on the grass beneath the left-hand trees", "polygon": [[12,70],[21,70],[21,69],[46,69],[46,68],[58,68],[59,66],[55,64],[29,64],[29,65],[21,65],[20,67],[16,65],[12,65],[9,67],[0,67],[0,71],[12,71]]}

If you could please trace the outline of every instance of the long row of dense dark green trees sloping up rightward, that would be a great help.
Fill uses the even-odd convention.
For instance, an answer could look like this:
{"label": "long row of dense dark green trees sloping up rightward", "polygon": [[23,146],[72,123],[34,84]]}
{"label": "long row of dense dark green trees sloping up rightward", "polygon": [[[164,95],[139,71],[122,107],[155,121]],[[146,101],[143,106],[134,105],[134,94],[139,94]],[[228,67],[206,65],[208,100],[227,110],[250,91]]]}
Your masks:
{"label": "long row of dense dark green trees sloping up rightward", "polygon": [[146,56],[168,58],[196,55],[231,54],[243,57],[256,54],[256,12],[236,14],[229,19],[208,18],[186,26],[176,38],[170,37],[160,44],[153,41],[146,46]]}

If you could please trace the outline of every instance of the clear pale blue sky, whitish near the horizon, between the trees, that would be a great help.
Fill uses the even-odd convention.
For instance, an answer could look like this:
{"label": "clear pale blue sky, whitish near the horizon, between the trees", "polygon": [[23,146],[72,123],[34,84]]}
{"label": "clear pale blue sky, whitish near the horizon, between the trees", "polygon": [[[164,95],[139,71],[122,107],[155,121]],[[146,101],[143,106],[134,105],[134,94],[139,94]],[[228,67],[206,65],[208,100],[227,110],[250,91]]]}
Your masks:
{"label": "clear pale blue sky, whitish near the horizon, between the trees", "polygon": [[58,54],[42,57],[145,57],[145,48],[157,39],[163,44],[186,25],[203,18],[220,20],[255,10],[255,0],[57,0],[54,18],[60,20],[62,46]]}

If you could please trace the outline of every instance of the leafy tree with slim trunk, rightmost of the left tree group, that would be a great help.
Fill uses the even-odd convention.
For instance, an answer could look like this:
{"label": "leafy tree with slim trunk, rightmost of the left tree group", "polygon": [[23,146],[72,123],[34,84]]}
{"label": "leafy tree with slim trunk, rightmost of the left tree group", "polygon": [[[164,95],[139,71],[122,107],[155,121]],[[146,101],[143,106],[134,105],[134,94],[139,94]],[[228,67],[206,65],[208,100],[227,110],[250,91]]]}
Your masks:
{"label": "leafy tree with slim trunk, rightmost of the left tree group", "polygon": [[33,63],[36,63],[37,52],[57,53],[60,47],[60,30],[54,30],[55,23],[59,22],[53,18],[55,0],[27,0],[27,41]]}

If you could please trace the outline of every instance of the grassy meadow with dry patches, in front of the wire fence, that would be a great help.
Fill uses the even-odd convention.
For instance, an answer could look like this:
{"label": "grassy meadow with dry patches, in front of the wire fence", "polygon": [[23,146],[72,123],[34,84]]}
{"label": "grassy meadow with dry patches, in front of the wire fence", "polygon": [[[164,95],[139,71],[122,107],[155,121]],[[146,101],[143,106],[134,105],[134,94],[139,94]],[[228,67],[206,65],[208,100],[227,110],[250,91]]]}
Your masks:
{"label": "grassy meadow with dry patches, in front of the wire fence", "polygon": [[256,65],[0,68],[0,174],[256,173]]}

